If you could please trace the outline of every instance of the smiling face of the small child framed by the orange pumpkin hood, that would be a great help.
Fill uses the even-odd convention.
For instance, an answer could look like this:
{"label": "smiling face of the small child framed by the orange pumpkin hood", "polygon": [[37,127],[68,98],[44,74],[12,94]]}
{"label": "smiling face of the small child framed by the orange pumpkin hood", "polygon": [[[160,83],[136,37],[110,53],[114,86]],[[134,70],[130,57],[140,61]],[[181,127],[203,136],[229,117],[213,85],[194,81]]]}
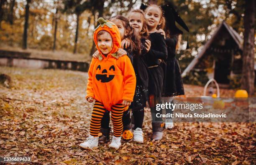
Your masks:
{"label": "smiling face of the small child framed by the orange pumpkin hood", "polygon": [[100,31],[97,35],[97,45],[103,54],[110,53],[113,48],[113,40],[110,33],[104,30]]}

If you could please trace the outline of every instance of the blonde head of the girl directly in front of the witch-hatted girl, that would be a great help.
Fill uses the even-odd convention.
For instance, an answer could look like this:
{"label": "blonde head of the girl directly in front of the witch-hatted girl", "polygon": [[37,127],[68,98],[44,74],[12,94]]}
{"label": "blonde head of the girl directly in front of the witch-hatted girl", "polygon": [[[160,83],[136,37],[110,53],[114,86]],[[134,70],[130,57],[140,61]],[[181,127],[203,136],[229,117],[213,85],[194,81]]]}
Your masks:
{"label": "blonde head of the girl directly in front of the witch-hatted girl", "polygon": [[161,16],[161,10],[158,7],[148,7],[145,14],[148,29],[156,30],[157,25],[161,25]]}

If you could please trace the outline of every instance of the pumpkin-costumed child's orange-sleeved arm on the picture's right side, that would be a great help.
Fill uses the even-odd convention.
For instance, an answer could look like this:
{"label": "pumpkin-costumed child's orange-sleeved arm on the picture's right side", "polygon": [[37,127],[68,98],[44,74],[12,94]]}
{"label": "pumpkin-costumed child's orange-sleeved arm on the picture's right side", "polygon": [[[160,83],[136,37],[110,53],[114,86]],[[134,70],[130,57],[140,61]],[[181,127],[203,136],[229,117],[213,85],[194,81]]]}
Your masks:
{"label": "pumpkin-costumed child's orange-sleeved arm on the picture's right side", "polygon": [[123,100],[132,102],[133,95],[136,87],[136,76],[131,64],[131,60],[128,56],[124,56],[120,58],[121,70],[123,73],[123,81],[124,81],[124,90],[123,90]]}

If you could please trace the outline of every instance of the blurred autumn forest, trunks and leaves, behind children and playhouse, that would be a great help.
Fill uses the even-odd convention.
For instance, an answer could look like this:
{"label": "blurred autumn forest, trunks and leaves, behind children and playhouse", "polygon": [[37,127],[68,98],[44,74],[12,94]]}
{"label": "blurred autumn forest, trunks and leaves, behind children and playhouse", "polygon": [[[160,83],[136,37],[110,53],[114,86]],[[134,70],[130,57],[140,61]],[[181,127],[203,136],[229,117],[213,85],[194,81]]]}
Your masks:
{"label": "blurred autumn forest, trunks and leaves, behind children and playhouse", "polygon": [[[129,10],[139,8],[141,3],[146,2],[148,1],[1,0],[0,48],[41,50],[38,54],[44,50],[48,51],[48,56],[69,55],[67,57],[70,59],[90,61],[95,51],[92,35],[97,26],[97,18],[125,16]],[[183,30],[182,44],[177,51],[182,71],[202,50],[223,20],[243,38],[243,0],[155,0],[157,5],[169,2],[175,5],[190,30],[189,33]],[[189,49],[186,49],[187,41]],[[184,79],[184,83],[203,85],[207,82],[206,76],[196,73],[189,77]]]}

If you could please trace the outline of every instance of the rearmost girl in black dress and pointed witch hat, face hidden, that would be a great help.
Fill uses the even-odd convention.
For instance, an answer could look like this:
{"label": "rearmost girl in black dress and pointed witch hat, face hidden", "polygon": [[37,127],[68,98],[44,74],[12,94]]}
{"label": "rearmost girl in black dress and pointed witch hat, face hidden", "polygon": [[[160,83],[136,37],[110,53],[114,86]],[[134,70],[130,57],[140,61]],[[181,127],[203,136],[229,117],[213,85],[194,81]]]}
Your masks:
{"label": "rearmost girl in black dress and pointed witch hat, face hidden", "polygon": [[[167,59],[164,61],[164,63],[161,63],[164,70],[162,102],[165,104],[166,102],[172,102],[174,96],[184,96],[181,71],[178,60],[175,58],[183,31],[177,28],[175,23],[178,23],[187,32],[189,32],[189,28],[187,27],[186,23],[184,23],[182,18],[180,18],[172,3],[163,5],[161,8],[164,11],[166,26],[164,30],[159,29],[159,33],[161,33],[164,37],[166,33],[166,45],[168,50]],[[188,44],[187,48],[189,48]],[[172,112],[172,109],[166,109],[166,114]],[[165,128],[171,129],[172,127],[174,127],[172,119],[166,119]]]}

